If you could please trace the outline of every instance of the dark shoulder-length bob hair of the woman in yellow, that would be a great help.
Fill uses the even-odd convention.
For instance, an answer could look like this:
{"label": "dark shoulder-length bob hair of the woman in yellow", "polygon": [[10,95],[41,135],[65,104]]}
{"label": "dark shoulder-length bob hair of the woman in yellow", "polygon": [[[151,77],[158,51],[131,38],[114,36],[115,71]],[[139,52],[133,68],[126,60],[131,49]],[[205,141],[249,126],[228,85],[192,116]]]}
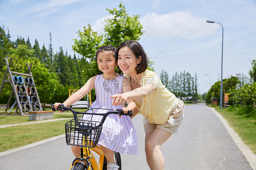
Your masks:
{"label": "dark shoulder-length bob hair of the woman in yellow", "polygon": [[[147,70],[147,68],[148,68],[148,56],[146,55],[142,45],[140,45],[137,41],[133,41],[133,40],[128,40],[128,41],[122,42],[118,46],[116,60],[118,60],[119,50],[123,47],[128,47],[129,49],[131,49],[133,51],[133,55],[135,55],[135,57],[137,59],[139,58],[139,56],[141,56],[141,62],[135,68],[135,70],[137,71],[137,74],[142,73],[145,70]],[[119,66],[118,66],[118,70],[119,70],[119,72],[121,71]]]}

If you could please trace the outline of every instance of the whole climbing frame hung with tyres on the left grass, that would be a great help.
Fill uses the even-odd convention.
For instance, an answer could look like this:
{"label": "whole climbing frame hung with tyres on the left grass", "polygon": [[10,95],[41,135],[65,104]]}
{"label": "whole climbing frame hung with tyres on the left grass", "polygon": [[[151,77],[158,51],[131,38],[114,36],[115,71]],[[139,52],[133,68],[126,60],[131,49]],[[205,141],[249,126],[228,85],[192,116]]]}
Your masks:
{"label": "whole climbing frame hung with tyres on the left grass", "polygon": [[[5,63],[7,65],[7,70],[5,73],[5,77],[3,80],[3,83],[0,87],[0,95],[4,88],[5,83],[10,83],[12,86],[12,91],[10,93],[9,100],[7,102],[5,112],[7,112],[7,109],[10,105],[10,100],[15,95],[15,103],[17,103],[17,108],[15,112],[19,112],[20,115],[23,115],[25,113],[28,113],[30,111],[41,111],[41,103],[39,100],[39,96],[36,91],[36,85],[31,73],[31,65],[27,63],[28,67],[28,74],[24,73],[18,73],[10,70],[12,58],[10,58],[10,61],[8,63],[7,58],[5,58]],[[9,74],[9,76],[7,76]],[[15,105],[15,103],[12,105],[11,109]],[[11,110],[10,109],[10,110]],[[10,113],[10,110],[8,113]]]}

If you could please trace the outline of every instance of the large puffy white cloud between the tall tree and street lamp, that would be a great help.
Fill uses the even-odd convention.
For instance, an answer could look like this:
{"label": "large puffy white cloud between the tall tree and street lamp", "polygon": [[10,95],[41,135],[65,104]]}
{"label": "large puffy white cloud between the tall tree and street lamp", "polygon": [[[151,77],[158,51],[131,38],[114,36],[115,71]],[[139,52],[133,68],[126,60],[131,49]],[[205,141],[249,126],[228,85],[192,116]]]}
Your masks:
{"label": "large puffy white cloud between the tall tree and street lamp", "polygon": [[213,34],[218,25],[206,23],[206,18],[193,16],[188,12],[175,11],[163,15],[150,13],[141,19],[143,30],[148,37],[164,38],[178,35],[187,25],[180,36],[186,38],[200,38]]}

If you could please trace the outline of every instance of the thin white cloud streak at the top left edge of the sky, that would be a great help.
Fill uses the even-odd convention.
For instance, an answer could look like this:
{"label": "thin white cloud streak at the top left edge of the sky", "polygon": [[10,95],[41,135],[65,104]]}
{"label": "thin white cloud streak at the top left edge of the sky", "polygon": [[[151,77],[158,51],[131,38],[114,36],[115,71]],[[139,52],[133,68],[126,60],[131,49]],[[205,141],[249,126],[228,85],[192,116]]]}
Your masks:
{"label": "thin white cloud streak at the top left edge of the sky", "polygon": [[72,4],[78,1],[81,1],[81,0],[50,0],[49,2],[37,4],[36,6],[31,8],[32,10],[27,10],[26,13],[46,10],[46,9],[53,8],[56,6],[61,6],[61,5]]}

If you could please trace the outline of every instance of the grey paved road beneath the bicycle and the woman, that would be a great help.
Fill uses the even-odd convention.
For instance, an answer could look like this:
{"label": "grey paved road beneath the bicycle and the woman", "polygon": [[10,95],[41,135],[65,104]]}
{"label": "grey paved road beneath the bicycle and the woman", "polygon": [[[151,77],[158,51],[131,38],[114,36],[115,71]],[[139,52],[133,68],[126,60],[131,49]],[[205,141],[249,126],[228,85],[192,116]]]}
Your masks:
{"label": "grey paved road beneath the bicycle and the woman", "polygon": [[[123,154],[123,170],[149,170],[144,155],[142,115],[135,116],[133,123],[139,154]],[[165,170],[251,170],[219,118],[205,105],[186,106],[179,135],[172,135],[161,150]],[[67,170],[72,160],[70,146],[62,137],[0,156],[0,170]]]}

